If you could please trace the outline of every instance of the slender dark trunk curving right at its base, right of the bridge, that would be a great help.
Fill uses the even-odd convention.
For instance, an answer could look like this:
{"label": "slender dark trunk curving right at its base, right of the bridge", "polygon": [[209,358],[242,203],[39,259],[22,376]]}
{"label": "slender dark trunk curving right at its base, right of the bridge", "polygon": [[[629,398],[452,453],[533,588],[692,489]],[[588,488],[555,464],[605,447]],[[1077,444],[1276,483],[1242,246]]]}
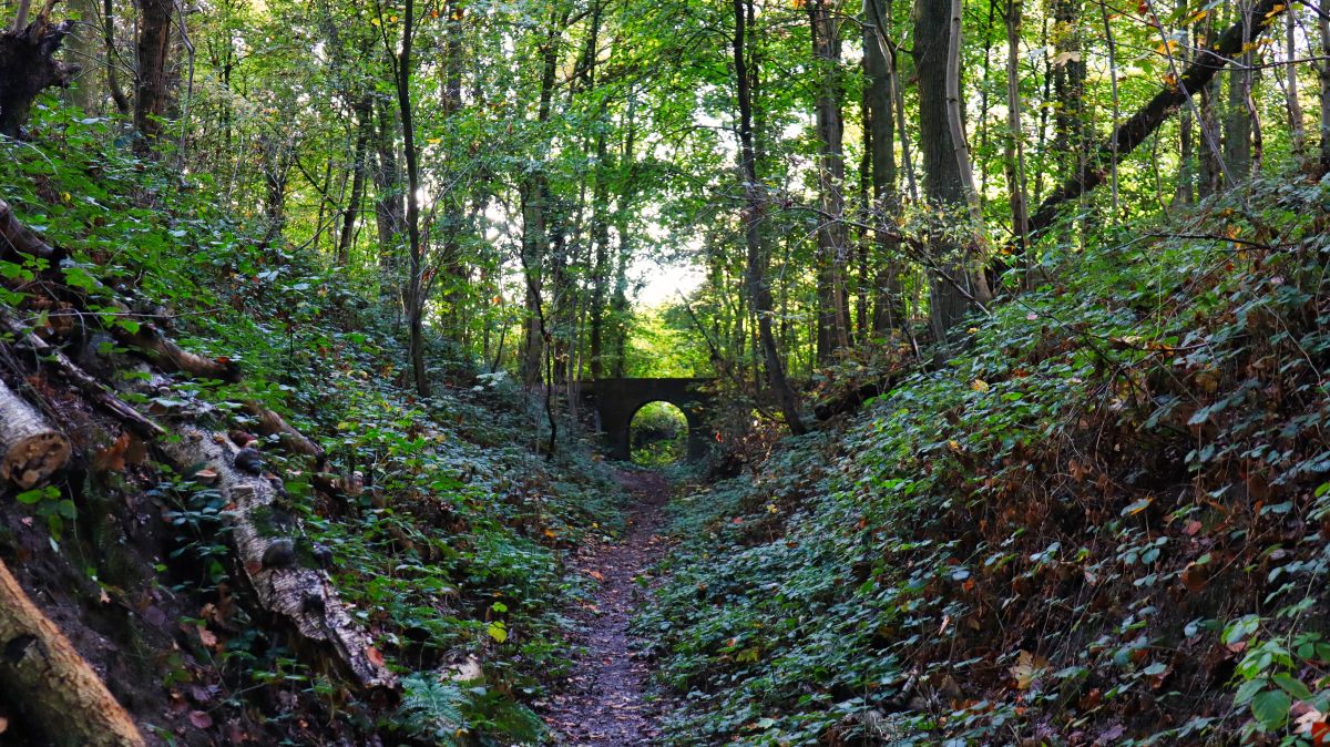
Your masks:
{"label": "slender dark trunk curving right at its base, right of the bridge", "polygon": [[[747,0],[751,3],[751,0]],[[747,249],[747,291],[758,320],[758,338],[766,362],[767,380],[785,415],[785,423],[794,435],[806,431],[799,413],[799,400],[794,387],[785,377],[785,363],[771,330],[771,288],[766,284],[766,249],[762,246],[761,221],[765,210],[762,187],[757,177],[757,156],[753,148],[753,100],[746,56],[746,29],[751,5],[734,0],[734,77],[739,106],[739,170],[743,174],[743,242]]]}

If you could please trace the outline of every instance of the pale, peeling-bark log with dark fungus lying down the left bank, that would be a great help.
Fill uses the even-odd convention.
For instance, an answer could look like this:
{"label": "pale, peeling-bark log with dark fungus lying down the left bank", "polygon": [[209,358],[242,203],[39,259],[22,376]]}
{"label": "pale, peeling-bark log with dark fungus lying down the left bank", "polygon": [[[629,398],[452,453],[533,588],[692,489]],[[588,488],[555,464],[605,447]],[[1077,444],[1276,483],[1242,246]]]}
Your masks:
{"label": "pale, peeling-bark log with dark fungus lying down the left bank", "polygon": [[[262,476],[235,468],[235,447],[222,433],[184,427],[180,439],[162,444],[185,469],[203,465],[217,473],[217,488],[234,505],[231,540],[245,578],[259,606],[313,643],[360,687],[395,689],[396,677],[383,663],[368,635],[351,619],[331,580],[322,570],[301,568],[290,526],[282,526],[277,490]],[[265,525],[277,532],[265,530]]]}

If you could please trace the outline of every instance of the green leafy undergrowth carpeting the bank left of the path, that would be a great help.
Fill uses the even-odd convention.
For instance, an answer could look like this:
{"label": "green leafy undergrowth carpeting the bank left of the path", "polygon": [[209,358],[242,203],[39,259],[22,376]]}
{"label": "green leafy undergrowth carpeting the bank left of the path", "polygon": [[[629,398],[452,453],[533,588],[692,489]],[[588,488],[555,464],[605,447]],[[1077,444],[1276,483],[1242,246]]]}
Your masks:
{"label": "green leafy undergrowth carpeting the bank left of the path", "polygon": [[[331,578],[352,617],[407,675],[395,711],[311,669],[235,597],[219,496],[132,463],[108,480],[158,504],[174,533],[166,550],[177,570],[149,573],[197,609],[180,621],[189,633],[162,675],[177,715],[266,744],[311,743],[327,730],[430,744],[537,742],[544,728],[528,706],[569,666],[560,610],[585,591],[564,553],[593,526],[597,536],[621,528],[617,482],[576,441],[553,461],[535,455],[543,413],[439,340],[434,396],[411,393],[402,326],[391,298],[374,300],[374,279],[311,266],[262,219],[225,213],[210,195],[226,185],[114,145],[117,126],[53,108],[33,125],[41,145],[0,144],[5,199],[48,242],[73,250],[61,272],[93,307],[100,299],[98,318],[51,302],[36,262],[0,261],[0,303],[28,327],[68,338],[70,351],[124,356],[98,324],[150,318],[188,350],[237,362],[241,384],[177,377],[141,404],[211,408],[218,427],[246,429],[245,403],[258,400],[326,448],[340,498],[319,497],[307,465],[287,461],[275,440],[263,453],[286,477],[302,546],[331,550]],[[136,315],[106,303],[112,294]],[[27,498],[56,520],[88,509],[56,493]],[[53,541],[51,552],[65,550]],[[94,580],[96,565],[86,572]],[[144,718],[176,740],[170,714]]]}

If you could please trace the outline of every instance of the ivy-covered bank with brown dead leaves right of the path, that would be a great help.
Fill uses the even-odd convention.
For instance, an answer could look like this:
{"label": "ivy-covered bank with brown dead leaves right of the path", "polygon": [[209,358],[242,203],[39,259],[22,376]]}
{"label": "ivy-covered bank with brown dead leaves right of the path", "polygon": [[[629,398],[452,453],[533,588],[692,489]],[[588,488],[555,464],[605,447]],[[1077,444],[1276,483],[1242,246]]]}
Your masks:
{"label": "ivy-covered bank with brown dead leaves right of the path", "polygon": [[674,744],[1319,744],[1330,183],[1049,257],[851,421],[677,504]]}

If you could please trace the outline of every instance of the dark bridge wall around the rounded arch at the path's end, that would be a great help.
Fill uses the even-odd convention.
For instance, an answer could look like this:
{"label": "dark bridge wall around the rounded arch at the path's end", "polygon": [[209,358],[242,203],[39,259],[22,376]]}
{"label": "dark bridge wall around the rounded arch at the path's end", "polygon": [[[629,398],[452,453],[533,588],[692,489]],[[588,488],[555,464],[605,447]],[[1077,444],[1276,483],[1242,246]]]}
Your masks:
{"label": "dark bridge wall around the rounded arch at the path's end", "polygon": [[712,379],[601,379],[581,385],[583,401],[598,415],[605,451],[610,459],[633,457],[629,429],[637,411],[653,401],[668,401],[688,420],[688,459],[706,456],[713,433],[706,425],[712,395],[698,387]]}

